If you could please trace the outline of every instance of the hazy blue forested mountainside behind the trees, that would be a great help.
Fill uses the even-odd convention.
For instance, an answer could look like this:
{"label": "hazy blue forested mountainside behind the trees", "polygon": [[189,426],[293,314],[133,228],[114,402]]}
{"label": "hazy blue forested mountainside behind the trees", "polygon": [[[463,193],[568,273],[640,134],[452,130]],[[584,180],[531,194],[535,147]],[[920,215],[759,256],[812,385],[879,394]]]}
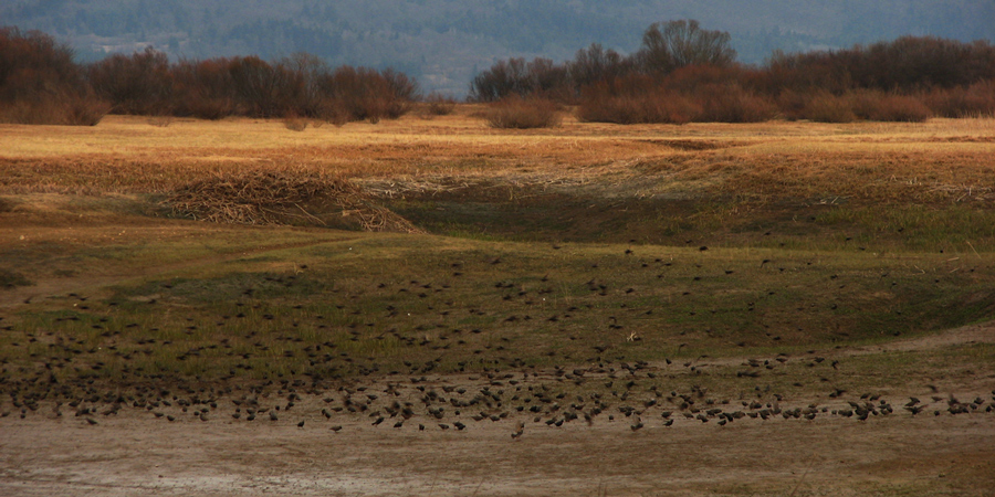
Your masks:
{"label": "hazy blue forested mountainside behind the trees", "polygon": [[510,56],[569,59],[590,43],[635,51],[654,21],[729,31],[745,63],[905,34],[995,41],[993,0],[4,0],[0,25],[36,29],[81,60],[147,45],[171,57],[310,52],[331,64],[391,66],[461,96]]}

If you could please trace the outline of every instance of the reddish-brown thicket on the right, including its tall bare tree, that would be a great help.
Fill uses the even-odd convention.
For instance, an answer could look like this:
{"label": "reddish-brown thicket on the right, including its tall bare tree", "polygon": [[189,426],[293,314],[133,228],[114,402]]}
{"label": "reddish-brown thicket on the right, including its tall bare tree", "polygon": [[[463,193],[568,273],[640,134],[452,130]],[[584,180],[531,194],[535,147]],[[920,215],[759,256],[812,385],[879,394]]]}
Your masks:
{"label": "reddish-brown thicket on the right, including its tall bare tree", "polygon": [[995,114],[995,46],[904,36],[847,50],[735,61],[729,33],[680,20],[650,25],[622,55],[591,44],[564,63],[507,59],[479,73],[470,98],[552,101],[585,120],[923,120]]}

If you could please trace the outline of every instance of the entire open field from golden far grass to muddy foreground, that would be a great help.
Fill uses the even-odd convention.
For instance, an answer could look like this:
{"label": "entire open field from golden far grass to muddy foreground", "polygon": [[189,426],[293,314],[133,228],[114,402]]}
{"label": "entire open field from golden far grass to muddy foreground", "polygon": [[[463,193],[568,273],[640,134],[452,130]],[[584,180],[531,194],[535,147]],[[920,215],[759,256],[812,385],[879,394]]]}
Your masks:
{"label": "entire open field from golden far grass to muddy foreground", "polygon": [[0,125],[0,494],[995,493],[995,119],[482,114]]}

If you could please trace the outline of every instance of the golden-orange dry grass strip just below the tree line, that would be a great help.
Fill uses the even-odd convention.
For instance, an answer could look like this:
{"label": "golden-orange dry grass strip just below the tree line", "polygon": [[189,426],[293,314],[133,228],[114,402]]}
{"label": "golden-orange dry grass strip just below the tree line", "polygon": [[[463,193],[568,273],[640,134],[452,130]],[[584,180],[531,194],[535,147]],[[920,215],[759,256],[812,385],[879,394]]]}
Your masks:
{"label": "golden-orange dry grass strip just below the tree line", "polygon": [[[218,176],[348,178],[381,198],[525,190],[750,205],[960,203],[995,199],[995,119],[766,121],[495,130],[486,107],[427,120],[310,127],[279,119],[109,116],[91,128],[0,126],[0,194],[171,194]],[[468,190],[469,189],[469,190]],[[491,194],[491,193],[488,193]],[[734,208],[734,205],[733,205]]]}

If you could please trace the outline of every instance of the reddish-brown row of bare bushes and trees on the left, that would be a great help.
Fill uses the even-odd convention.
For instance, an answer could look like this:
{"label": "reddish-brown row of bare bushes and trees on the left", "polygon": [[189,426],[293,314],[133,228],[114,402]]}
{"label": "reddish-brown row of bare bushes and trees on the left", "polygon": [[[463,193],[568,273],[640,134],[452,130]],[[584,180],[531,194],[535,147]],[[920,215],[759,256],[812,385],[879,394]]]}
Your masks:
{"label": "reddish-brown row of bare bushes and trees on the left", "polygon": [[404,115],[417,96],[404,73],[332,68],[306,53],[170,63],[149,47],[81,65],[48,34],[0,29],[0,120],[11,123],[94,125],[107,113],[375,123]]}

